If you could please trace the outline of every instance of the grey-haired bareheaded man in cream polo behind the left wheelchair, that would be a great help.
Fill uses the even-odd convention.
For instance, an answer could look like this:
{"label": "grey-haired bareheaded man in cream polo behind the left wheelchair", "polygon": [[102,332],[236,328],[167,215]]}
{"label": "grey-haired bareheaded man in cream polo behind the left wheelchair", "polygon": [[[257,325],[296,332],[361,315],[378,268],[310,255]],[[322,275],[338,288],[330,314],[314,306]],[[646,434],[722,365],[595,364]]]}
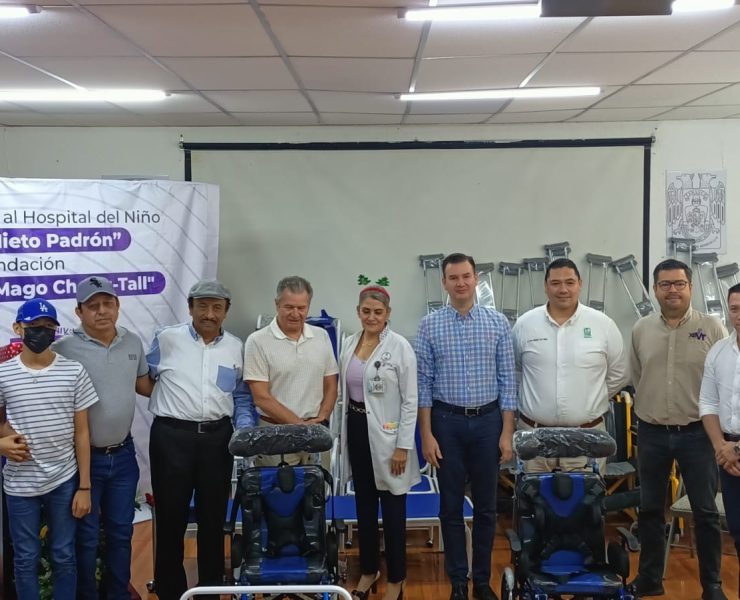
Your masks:
{"label": "grey-haired bareheaded man in cream polo behind the left wheelchair", "polygon": [[[244,379],[249,384],[260,425],[328,423],[337,400],[337,361],[329,335],[306,323],[313,289],[303,277],[291,276],[277,286],[277,314],[247,338]],[[305,464],[305,452],[286,455],[289,464]],[[261,466],[279,456],[261,456]]]}

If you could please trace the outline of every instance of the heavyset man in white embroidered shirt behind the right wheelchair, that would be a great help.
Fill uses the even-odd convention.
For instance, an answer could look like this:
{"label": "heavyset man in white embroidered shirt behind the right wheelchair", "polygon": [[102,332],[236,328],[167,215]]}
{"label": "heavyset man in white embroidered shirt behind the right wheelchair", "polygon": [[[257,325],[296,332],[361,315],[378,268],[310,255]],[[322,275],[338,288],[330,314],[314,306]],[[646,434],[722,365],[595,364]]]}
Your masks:
{"label": "heavyset man in white embroidered shirt behind the right wheelchair", "polygon": [[[579,302],[581,276],[567,258],[545,272],[547,304],[528,311],[512,329],[519,389],[519,428],[605,429],[609,398],[628,380],[627,356],[617,325]],[[583,469],[585,458],[540,458],[527,471]],[[603,472],[606,459],[599,461]]]}

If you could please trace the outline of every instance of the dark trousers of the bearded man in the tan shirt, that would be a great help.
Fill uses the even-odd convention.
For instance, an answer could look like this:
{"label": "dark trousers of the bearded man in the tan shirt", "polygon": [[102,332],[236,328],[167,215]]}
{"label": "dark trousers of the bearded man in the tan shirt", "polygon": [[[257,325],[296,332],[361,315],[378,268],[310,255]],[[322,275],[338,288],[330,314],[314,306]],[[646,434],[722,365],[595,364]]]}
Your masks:
{"label": "dark trousers of the bearded man in the tan shirt", "polygon": [[638,422],[640,474],[640,579],[663,579],[665,553],[665,502],[668,477],[675,459],[691,503],[702,587],[720,583],[722,537],[717,493],[717,462],[712,443],[701,423],[689,428],[667,429]]}

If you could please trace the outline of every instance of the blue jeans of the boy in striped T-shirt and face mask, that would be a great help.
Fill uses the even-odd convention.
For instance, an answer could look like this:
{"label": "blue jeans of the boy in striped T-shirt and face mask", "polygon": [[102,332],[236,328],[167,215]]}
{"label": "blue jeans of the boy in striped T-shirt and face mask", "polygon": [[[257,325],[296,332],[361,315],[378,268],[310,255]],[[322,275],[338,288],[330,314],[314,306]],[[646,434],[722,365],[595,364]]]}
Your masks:
{"label": "blue jeans of the boy in striped T-shirt and face mask", "polygon": [[46,515],[49,536],[54,598],[74,598],[75,530],[72,498],[77,491],[77,475],[42,496],[6,495],[8,526],[13,540],[15,591],[18,600],[39,599],[39,563],[41,559],[41,509]]}

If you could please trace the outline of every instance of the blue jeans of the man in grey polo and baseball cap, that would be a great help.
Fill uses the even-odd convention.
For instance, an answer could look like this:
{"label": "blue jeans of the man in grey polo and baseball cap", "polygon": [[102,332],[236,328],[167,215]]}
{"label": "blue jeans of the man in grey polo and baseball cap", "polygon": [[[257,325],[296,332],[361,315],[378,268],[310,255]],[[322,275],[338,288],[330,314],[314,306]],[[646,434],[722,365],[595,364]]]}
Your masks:
{"label": "blue jeans of the man in grey polo and baseball cap", "polygon": [[99,527],[105,533],[105,583],[108,600],[129,600],[131,536],[139,465],[134,443],[111,454],[90,456],[92,510],[77,524],[77,598],[97,600],[95,582]]}

